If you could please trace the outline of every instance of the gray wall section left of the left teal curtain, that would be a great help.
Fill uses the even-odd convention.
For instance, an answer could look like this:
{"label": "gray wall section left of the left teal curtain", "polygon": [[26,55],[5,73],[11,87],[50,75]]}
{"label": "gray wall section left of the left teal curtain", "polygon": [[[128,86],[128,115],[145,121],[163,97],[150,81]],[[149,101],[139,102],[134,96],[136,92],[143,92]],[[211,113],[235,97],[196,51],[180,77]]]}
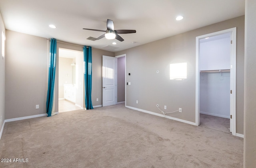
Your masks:
{"label": "gray wall section left of the left teal curtain", "polygon": [[6,30],[5,119],[46,113],[47,76],[47,40]]}

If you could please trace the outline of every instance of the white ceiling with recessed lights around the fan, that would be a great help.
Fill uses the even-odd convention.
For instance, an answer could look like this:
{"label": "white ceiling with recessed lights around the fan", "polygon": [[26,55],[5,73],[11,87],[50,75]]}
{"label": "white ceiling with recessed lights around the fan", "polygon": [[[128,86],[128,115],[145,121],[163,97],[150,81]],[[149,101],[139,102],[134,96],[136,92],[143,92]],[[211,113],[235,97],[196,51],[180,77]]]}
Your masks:
{"label": "white ceiling with recessed lights around the fan", "polygon": [[[244,8],[245,0],[0,0],[8,30],[112,52],[242,16]],[[176,21],[178,15],[184,19]],[[107,19],[114,21],[115,30],[137,32],[120,34],[123,42],[86,40],[104,32],[82,28],[106,30]]]}

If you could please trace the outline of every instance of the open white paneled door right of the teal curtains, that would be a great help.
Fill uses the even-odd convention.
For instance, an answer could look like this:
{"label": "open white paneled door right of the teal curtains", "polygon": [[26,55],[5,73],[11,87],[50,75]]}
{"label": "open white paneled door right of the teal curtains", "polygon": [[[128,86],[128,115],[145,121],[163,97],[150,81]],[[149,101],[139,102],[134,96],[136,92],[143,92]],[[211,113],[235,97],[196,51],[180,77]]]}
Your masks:
{"label": "open white paneled door right of the teal curtains", "polygon": [[116,104],[116,58],[102,56],[102,106]]}

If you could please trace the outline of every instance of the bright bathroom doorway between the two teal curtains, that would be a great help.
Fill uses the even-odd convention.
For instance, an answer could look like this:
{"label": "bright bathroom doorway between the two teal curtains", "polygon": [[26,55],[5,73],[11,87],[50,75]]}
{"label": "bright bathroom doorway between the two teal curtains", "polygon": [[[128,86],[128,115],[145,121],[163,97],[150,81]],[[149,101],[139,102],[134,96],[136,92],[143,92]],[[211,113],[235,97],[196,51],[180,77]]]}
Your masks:
{"label": "bright bathroom doorway between the two teal curtains", "polygon": [[83,108],[83,52],[59,48],[58,111]]}

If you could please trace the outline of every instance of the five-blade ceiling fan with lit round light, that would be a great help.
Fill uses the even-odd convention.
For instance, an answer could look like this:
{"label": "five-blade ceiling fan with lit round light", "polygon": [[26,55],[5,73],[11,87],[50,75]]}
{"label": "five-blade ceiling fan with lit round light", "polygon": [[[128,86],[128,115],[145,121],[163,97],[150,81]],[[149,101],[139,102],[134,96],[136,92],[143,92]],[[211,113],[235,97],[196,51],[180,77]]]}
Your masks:
{"label": "five-blade ceiling fan with lit round light", "polygon": [[114,22],[113,20],[107,20],[107,30],[97,30],[97,29],[90,29],[90,28],[83,28],[84,30],[93,30],[98,32],[105,32],[100,37],[96,38],[96,40],[100,40],[103,37],[106,39],[114,39],[119,40],[120,42],[124,41],[124,39],[119,36],[118,34],[128,34],[128,33],[136,33],[136,30],[114,30]]}

